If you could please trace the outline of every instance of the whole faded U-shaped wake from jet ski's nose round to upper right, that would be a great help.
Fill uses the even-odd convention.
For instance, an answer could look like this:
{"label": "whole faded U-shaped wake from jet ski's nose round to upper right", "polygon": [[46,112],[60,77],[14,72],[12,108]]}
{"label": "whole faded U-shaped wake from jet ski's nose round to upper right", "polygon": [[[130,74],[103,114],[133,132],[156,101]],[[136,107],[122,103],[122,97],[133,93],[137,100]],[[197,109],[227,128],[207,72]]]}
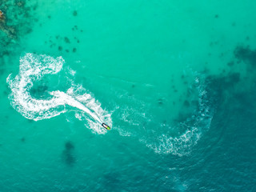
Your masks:
{"label": "whole faded U-shaped wake from jet ski's nose round to upper right", "polygon": [[[187,115],[185,120],[174,122],[171,125],[158,122],[158,120],[154,121],[154,116],[149,110],[150,104],[134,98],[133,102],[136,102],[138,108],[126,106],[117,114],[118,118],[122,119],[119,125],[132,126],[134,129],[127,131],[123,128],[125,126],[120,126],[118,127],[119,134],[137,137],[140,142],[157,154],[178,156],[190,154],[203,134],[210,129],[215,111],[213,96],[207,90],[205,78],[193,71],[191,73],[194,80],[191,84],[194,94],[191,97],[194,97],[193,100],[197,104],[193,106],[194,110]],[[174,130],[178,132],[177,136],[174,136]]]}

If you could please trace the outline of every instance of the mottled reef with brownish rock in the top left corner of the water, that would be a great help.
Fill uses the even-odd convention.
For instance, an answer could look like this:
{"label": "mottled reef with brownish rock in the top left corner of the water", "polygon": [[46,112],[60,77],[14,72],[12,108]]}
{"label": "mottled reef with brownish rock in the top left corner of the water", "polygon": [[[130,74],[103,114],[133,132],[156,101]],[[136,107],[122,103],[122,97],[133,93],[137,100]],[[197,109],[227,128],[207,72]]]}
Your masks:
{"label": "mottled reef with brownish rock in the top left corner of the water", "polygon": [[6,58],[16,54],[20,49],[19,40],[32,31],[37,1],[0,0],[0,62],[2,66]]}

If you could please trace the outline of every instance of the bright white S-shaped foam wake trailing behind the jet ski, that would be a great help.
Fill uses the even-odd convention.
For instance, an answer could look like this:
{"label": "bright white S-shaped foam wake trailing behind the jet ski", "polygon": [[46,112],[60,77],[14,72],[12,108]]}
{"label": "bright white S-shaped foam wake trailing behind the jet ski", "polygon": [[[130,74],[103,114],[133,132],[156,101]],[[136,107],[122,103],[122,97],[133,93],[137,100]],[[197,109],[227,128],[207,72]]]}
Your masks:
{"label": "bright white S-shaped foam wake trailing behind the jet ski", "polygon": [[87,94],[82,86],[72,85],[66,92],[51,91],[51,98],[46,100],[31,96],[33,82],[41,80],[45,74],[57,74],[64,62],[62,57],[52,58],[44,54],[25,54],[20,58],[18,75],[12,78],[10,74],[6,79],[12,91],[9,97],[12,106],[25,118],[34,121],[52,118],[75,108],[76,118],[86,120],[94,132],[106,133],[101,124],[106,122],[112,126],[110,114],[102,110],[101,104]]}

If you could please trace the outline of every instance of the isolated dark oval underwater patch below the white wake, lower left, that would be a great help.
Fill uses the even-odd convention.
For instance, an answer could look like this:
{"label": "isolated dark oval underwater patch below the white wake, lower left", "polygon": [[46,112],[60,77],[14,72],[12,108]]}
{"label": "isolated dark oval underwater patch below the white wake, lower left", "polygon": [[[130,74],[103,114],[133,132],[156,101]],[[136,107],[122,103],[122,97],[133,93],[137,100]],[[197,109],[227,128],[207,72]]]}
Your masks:
{"label": "isolated dark oval underwater patch below the white wake, lower left", "polygon": [[62,151],[62,159],[67,166],[74,166],[74,144],[70,141],[65,143],[65,149]]}

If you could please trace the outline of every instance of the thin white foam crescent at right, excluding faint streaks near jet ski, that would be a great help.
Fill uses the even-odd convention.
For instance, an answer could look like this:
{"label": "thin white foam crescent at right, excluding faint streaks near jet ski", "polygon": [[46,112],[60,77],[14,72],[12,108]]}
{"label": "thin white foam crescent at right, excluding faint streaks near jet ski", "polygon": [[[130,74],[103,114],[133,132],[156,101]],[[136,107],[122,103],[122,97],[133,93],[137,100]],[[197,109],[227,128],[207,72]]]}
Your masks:
{"label": "thin white foam crescent at right, excluding faint streaks near jet ski", "polygon": [[198,110],[187,118],[185,122],[180,122],[177,129],[185,128],[185,133],[178,137],[171,137],[170,134],[162,134],[154,138],[154,142],[147,142],[146,146],[159,154],[176,154],[178,156],[190,154],[190,150],[195,146],[202,134],[209,130],[211,120],[214,115],[214,107],[211,106],[210,97],[206,91],[206,85],[203,78],[195,78],[195,85],[198,89]]}

